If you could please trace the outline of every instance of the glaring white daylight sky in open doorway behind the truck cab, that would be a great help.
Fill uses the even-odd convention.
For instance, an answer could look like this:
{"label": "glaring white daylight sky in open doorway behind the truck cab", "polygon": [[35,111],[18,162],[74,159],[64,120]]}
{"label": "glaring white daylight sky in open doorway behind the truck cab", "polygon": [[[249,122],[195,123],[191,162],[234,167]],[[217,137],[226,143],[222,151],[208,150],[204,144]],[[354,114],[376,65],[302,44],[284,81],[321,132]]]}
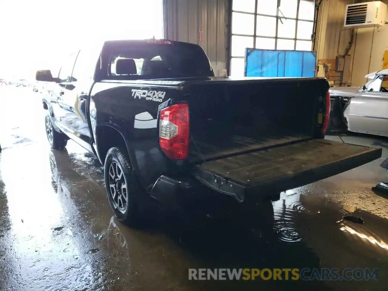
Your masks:
{"label": "glaring white daylight sky in open doorway behind the truck cab", "polygon": [[162,0],[4,1],[0,78],[32,78],[88,42],[163,38]]}

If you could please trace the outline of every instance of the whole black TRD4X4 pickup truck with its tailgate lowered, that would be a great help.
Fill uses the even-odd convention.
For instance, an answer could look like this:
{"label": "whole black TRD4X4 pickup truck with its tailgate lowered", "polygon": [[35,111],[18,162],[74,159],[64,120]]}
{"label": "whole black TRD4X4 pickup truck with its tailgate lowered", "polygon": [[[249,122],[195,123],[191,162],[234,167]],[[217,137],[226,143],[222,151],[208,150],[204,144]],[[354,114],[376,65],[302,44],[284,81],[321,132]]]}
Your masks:
{"label": "whole black TRD4X4 pickup truck with its tailgate lowered", "polygon": [[73,139],[99,158],[109,203],[125,223],[139,220],[150,197],[214,190],[243,202],[381,157],[381,149],[323,139],[326,80],[215,77],[190,43],[107,41],[71,54],[57,77],[42,70],[36,80],[53,82],[43,98],[51,147]]}

